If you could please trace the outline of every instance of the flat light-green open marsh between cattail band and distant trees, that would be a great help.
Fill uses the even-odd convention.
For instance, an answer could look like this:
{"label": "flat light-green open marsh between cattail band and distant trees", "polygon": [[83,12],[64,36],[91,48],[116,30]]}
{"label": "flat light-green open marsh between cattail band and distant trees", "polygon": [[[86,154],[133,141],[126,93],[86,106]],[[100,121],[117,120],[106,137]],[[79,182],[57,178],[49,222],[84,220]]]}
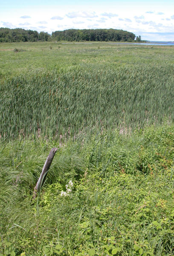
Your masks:
{"label": "flat light-green open marsh between cattail band and distant trees", "polygon": [[[24,52],[14,52],[14,48]],[[52,48],[52,49],[51,49]],[[135,64],[173,64],[172,46],[143,46],[115,42],[1,43],[1,76],[26,73],[30,69],[66,70],[71,66],[97,64],[118,68]]]}

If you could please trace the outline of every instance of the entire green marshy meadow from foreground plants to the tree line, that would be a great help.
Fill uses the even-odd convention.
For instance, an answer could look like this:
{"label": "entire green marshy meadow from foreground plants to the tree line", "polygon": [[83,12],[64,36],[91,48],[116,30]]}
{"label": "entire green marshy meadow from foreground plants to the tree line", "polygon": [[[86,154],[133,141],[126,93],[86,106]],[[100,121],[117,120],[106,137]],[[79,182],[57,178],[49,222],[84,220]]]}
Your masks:
{"label": "entire green marshy meadow from foreground plants to the tree line", "polygon": [[0,256],[174,255],[174,47],[1,43],[0,66]]}

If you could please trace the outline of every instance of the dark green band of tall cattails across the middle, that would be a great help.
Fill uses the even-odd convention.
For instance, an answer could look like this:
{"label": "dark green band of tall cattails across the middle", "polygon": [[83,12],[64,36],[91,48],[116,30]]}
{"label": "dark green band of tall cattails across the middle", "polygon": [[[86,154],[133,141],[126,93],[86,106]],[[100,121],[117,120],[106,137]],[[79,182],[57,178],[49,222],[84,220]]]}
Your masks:
{"label": "dark green band of tall cattails across the middle", "polygon": [[142,128],[174,120],[172,65],[32,70],[0,83],[0,135],[75,136],[85,127]]}

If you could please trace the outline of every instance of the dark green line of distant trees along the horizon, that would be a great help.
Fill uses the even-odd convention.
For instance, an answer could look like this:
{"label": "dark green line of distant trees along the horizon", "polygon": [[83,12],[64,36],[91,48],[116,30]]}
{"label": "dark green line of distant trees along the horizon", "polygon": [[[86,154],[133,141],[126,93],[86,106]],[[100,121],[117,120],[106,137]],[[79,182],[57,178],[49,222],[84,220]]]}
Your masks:
{"label": "dark green line of distant trees along the horizon", "polygon": [[[0,28],[0,42],[36,41],[128,41],[135,40],[135,34],[120,29],[67,29],[64,31],[40,32],[26,29]],[[141,36],[136,37],[141,41]]]}

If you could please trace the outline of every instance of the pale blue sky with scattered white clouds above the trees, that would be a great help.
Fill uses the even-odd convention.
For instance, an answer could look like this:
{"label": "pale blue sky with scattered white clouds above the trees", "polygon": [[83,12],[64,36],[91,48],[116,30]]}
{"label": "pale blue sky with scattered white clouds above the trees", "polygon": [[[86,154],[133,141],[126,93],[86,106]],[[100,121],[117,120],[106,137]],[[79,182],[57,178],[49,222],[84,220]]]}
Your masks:
{"label": "pale blue sky with scattered white clouds above the trees", "polygon": [[0,27],[49,34],[113,28],[142,40],[174,41],[174,0],[0,0]]}

